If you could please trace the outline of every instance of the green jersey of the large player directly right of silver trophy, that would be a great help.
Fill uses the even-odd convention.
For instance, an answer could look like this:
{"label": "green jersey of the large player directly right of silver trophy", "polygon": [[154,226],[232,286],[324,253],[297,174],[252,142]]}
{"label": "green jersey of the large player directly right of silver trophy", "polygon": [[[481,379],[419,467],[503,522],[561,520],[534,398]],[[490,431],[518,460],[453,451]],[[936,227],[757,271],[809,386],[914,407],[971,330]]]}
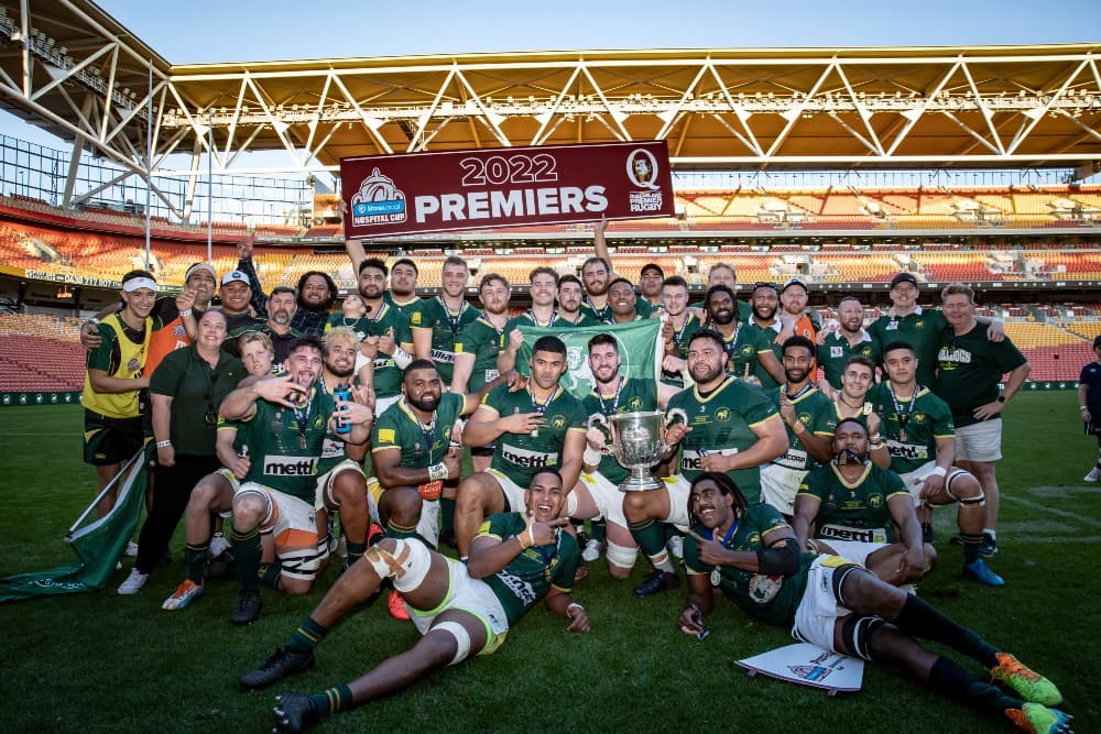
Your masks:
{"label": "green jersey of the large player directly right of silver trophy", "polygon": [[[757,441],[754,428],[773,416],[780,418],[776,406],[764,391],[735,377],[727,377],[707,396],[699,394],[699,385],[677,393],[669,399],[671,417],[676,409],[684,412],[691,428],[680,441],[679,464],[680,474],[689,482],[702,473],[701,458],[708,453],[733,454],[746,450]],[[751,505],[761,501],[759,467],[728,473]]]}

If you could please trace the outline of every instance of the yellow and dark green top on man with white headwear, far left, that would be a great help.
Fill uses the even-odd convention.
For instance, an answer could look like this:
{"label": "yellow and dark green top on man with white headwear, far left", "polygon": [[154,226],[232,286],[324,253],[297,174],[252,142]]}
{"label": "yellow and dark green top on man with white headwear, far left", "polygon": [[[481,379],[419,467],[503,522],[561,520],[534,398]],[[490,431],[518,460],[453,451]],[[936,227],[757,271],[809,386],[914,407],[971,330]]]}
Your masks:
{"label": "yellow and dark green top on man with white headwear, far left", "polygon": [[[148,317],[142,329],[135,331],[126,325],[118,314],[111,314],[99,322],[99,347],[88,352],[86,365],[89,370],[102,370],[109,377],[134,380],[145,370],[145,358],[153,331],[160,326],[155,318]],[[97,393],[91,387],[91,377],[84,376],[84,392],[80,403],[86,410],[92,410],[108,418],[137,418],[139,414],[138,394],[129,390],[124,393]]]}

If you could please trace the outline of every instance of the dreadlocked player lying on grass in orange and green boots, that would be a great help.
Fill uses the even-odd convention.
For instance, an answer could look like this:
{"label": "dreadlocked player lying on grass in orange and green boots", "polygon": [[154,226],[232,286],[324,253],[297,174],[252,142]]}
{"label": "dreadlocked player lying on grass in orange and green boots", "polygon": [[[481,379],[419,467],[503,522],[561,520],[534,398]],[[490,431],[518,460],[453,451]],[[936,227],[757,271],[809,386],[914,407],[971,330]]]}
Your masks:
{"label": "dreadlocked player lying on grass in orange and green boots", "polygon": [[[688,515],[688,600],[679,618],[685,633],[705,631],[718,589],[746,613],[789,628],[796,639],[894,662],[935,691],[1009,717],[1026,732],[1070,731],[1071,716],[1053,708],[1062,695],[1047,678],[868,569],[838,556],[799,552],[783,516],[770,505],[748,506],[729,475],[697,476]],[[917,637],[978,660],[1004,687],[978,680]]]}

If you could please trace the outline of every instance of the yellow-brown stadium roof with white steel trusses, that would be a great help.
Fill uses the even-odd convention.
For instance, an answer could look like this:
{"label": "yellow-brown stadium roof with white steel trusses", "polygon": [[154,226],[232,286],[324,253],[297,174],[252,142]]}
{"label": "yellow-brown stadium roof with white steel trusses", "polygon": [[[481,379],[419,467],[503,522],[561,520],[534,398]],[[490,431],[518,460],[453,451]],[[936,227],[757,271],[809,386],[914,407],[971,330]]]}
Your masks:
{"label": "yellow-brown stadium roof with white steel trusses", "polygon": [[[206,174],[211,140],[214,172],[252,174],[653,139],[668,141],[679,171],[1039,166],[1086,177],[1101,168],[1099,62],[1101,43],[188,65],[87,0],[0,0],[0,105],[75,151],[192,177]],[[260,151],[285,162],[250,165]]]}

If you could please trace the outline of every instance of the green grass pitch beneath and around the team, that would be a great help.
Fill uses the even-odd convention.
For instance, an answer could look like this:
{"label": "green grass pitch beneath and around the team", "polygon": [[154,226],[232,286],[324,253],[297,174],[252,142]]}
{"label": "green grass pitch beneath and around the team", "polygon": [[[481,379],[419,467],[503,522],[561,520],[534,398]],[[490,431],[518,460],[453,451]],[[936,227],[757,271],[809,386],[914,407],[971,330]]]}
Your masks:
{"label": "green grass pitch beneath and around the team", "polygon": [[[4,408],[0,415],[0,576],[67,563],[73,556],[62,538],[95,485],[79,460],[79,408]],[[939,566],[918,593],[1055,680],[1077,731],[1091,732],[1101,728],[1089,668],[1101,657],[1101,584],[1091,556],[1101,550],[1101,493],[1081,481],[1097,447],[1081,436],[1077,415],[1071,392],[1023,394],[1007,410],[1000,554],[991,562],[1007,585],[992,590],[961,580],[960,550],[947,544],[955,524],[949,508],[936,516]],[[378,603],[330,633],[314,670],[272,692],[243,693],[238,677],[285,640],[336,569],[305,598],[265,590],[261,618],[241,628],[229,623],[233,581],[211,581],[207,595],[184,612],[161,611],[184,577],[182,546],[181,528],[175,562],[155,571],[135,596],[115,593],[128,563],[95,594],[0,605],[3,731],[270,731],[274,693],[349,680],[417,637]],[[863,691],[833,699],[750,678],[734,660],[785,645],[787,634],[719,600],[711,637],[697,643],[675,625],[683,593],[631,594],[643,565],[630,582],[612,580],[603,560],[593,565],[575,591],[593,620],[590,634],[567,635],[564,621],[539,606],[497,654],[335,716],[320,731],[1010,730],[874,664],[865,668]]]}

